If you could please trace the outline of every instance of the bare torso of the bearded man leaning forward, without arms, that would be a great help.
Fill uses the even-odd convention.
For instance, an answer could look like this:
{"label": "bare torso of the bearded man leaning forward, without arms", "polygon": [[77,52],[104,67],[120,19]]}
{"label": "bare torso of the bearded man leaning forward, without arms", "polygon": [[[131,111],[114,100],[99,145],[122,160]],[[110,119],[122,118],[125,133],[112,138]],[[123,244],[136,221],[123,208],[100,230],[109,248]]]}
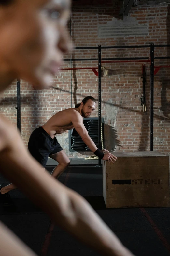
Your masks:
{"label": "bare torso of the bearded man leaning forward, without arms", "polygon": [[56,134],[61,134],[74,128],[71,120],[73,115],[76,113],[79,113],[79,108],[69,108],[59,111],[53,115],[42,127],[53,139]]}

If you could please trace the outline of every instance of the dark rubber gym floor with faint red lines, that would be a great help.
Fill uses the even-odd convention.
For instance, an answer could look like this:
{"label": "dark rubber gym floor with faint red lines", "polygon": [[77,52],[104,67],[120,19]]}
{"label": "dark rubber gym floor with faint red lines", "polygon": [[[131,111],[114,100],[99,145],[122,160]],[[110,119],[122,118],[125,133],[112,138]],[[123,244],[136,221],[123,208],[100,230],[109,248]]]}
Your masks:
{"label": "dark rubber gym floor with faint red lines", "polygon": [[[55,163],[49,159],[46,167],[49,172]],[[170,255],[170,208],[106,209],[102,196],[102,168],[96,167],[97,163],[97,160],[71,159],[71,166],[59,180],[82,195],[136,256]],[[7,184],[8,181],[0,176],[0,185]],[[99,255],[53,225],[50,218],[19,190],[10,195],[16,208],[5,210],[1,206],[0,220],[38,255]]]}

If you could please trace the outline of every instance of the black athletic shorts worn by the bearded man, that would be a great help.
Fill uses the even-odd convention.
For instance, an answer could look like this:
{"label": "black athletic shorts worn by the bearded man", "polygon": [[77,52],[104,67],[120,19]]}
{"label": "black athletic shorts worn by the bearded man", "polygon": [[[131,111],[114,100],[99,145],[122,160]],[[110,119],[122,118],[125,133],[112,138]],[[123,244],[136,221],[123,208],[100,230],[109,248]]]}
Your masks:
{"label": "black athletic shorts worn by the bearded man", "polygon": [[48,157],[62,151],[63,148],[60,146],[56,137],[52,139],[40,126],[31,133],[28,142],[28,150],[31,155],[45,168]]}

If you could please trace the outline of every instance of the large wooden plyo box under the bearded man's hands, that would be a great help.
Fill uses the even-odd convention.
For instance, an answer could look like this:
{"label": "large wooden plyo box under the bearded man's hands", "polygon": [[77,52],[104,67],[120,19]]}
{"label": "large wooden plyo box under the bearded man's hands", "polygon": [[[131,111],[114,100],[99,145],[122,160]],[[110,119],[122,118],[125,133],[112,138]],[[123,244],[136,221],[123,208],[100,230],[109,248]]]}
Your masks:
{"label": "large wooden plyo box under the bearded man's hands", "polygon": [[103,161],[103,197],[107,208],[169,207],[169,156],[160,152],[113,152]]}

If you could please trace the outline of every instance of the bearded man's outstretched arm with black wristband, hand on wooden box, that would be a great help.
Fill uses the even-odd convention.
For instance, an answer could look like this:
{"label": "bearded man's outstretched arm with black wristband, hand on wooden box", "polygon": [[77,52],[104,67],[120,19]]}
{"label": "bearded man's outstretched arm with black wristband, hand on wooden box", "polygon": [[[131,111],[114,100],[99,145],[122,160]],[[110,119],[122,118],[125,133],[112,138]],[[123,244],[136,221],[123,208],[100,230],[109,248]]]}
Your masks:
{"label": "bearded man's outstretched arm with black wristband, hand on wooden box", "polygon": [[[90,150],[94,153],[96,152],[96,150],[98,149],[95,145],[95,143],[93,142],[93,140],[91,139],[91,137],[88,134],[88,131],[86,130],[83,122],[82,122],[82,117],[81,115],[77,112],[72,116],[71,122],[75,128],[75,130],[78,132],[78,134],[81,136],[82,140],[84,141],[84,143],[90,148]],[[100,150],[99,154],[101,154]],[[106,152],[106,151],[105,151]],[[97,155],[97,154],[96,154]],[[100,157],[100,155],[99,155]],[[102,157],[103,160],[108,160],[109,163],[110,161],[112,163],[114,163],[114,161],[116,161],[116,157],[114,155],[112,155],[111,153],[109,153],[109,151],[107,153],[105,153]]]}

